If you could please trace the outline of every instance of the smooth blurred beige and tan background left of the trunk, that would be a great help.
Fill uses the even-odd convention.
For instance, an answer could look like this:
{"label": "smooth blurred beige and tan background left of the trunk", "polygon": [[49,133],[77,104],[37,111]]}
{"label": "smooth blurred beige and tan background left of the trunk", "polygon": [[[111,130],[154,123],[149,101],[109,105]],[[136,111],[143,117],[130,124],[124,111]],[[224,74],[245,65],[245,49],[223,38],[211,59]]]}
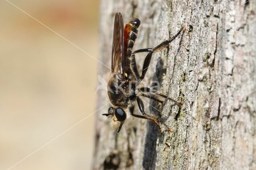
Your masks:
{"label": "smooth blurred beige and tan background left of the trunk", "polygon": [[[98,57],[98,0],[10,0]],[[8,169],[95,111],[98,62],[0,1],[0,169]],[[90,169],[94,115],[12,167]]]}

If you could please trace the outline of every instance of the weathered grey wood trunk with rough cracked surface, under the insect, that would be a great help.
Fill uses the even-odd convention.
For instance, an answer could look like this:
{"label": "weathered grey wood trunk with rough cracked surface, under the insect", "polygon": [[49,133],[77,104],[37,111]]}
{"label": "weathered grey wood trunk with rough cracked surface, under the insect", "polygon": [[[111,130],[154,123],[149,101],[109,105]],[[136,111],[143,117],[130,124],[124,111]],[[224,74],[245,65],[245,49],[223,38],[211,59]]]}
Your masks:
{"label": "weathered grey wood trunk with rough cracked surface, under the insect", "polygon": [[[149,67],[145,79],[148,86],[159,81],[160,92],[184,105],[146,100],[162,112],[146,105],[174,130],[170,134],[138,118],[117,134],[101,115],[109,106],[100,109],[93,169],[256,169],[256,1],[244,2],[102,0],[100,60],[108,66],[116,12],[125,23],[140,19],[135,50],[187,28],[176,58],[180,36],[153,55],[151,63],[163,58]],[[136,56],[140,69],[144,56]],[[99,64],[99,74],[107,77],[107,72]],[[108,102],[101,91],[98,108]]]}

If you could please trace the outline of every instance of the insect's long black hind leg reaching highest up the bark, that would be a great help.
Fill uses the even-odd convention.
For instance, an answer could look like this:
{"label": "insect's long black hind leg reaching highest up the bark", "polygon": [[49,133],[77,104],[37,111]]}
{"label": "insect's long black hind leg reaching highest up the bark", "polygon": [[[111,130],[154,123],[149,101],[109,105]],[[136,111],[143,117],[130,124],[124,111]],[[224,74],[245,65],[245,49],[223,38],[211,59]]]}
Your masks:
{"label": "insect's long black hind leg reaching highest up the bark", "polygon": [[144,76],[148,70],[148,66],[150,64],[150,61],[151,61],[151,57],[152,57],[152,54],[154,52],[157,52],[157,51],[160,51],[162,50],[164,47],[166,47],[170,42],[172,42],[176,37],[178,37],[178,35],[181,33],[181,31],[183,31],[183,33],[185,32],[186,30],[186,27],[182,27],[178,33],[176,33],[176,35],[174,35],[172,38],[162,42],[161,44],[157,45],[156,47],[154,47],[152,50],[149,51],[148,55],[146,55],[146,58],[144,60],[144,63],[143,63],[143,68],[142,68],[142,75],[140,76],[140,79],[143,80],[144,79]]}

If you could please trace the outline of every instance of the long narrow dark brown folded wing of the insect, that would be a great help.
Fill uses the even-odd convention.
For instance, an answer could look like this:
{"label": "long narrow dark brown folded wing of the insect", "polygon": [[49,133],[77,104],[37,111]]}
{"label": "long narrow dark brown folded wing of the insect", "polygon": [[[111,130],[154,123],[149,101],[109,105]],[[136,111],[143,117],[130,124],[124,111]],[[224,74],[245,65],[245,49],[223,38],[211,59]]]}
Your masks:
{"label": "long narrow dark brown folded wing of the insect", "polygon": [[122,81],[124,81],[124,22],[121,13],[116,13],[114,22],[114,33],[113,33],[113,46],[112,46],[112,72],[121,75]]}

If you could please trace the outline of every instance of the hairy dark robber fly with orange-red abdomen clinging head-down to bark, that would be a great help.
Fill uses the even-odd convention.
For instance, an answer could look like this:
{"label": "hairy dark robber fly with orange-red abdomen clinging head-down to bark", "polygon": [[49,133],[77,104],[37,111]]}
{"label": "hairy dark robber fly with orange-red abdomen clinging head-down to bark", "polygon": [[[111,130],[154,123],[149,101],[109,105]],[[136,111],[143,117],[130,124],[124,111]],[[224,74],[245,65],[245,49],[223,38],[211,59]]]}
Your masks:
{"label": "hairy dark robber fly with orange-red abdomen clinging head-down to bark", "polygon": [[[170,133],[172,129],[169,128],[160,119],[160,117],[146,113],[141,98],[150,98],[160,103],[163,103],[161,99],[168,99],[179,107],[182,106],[183,102],[178,102],[148,87],[140,87],[140,82],[144,79],[148,70],[152,54],[166,47],[170,42],[178,37],[181,32],[183,36],[186,28],[182,27],[176,35],[166,41],[163,41],[154,48],[133,51],[132,49],[137,38],[139,26],[140,20],[138,18],[130,20],[124,26],[122,14],[117,13],[115,16],[111,63],[112,72],[110,73],[110,78],[107,84],[108,97],[113,106],[109,107],[108,113],[102,115],[111,117],[112,125],[118,127],[117,133],[120,132],[122,125],[130,116],[153,121],[162,133],[163,131],[160,127],[161,123],[166,127],[168,133]],[[135,54],[140,52],[148,52],[144,60],[141,74],[138,72],[135,61]],[[134,106],[136,104],[138,105],[142,115],[134,114]]]}

